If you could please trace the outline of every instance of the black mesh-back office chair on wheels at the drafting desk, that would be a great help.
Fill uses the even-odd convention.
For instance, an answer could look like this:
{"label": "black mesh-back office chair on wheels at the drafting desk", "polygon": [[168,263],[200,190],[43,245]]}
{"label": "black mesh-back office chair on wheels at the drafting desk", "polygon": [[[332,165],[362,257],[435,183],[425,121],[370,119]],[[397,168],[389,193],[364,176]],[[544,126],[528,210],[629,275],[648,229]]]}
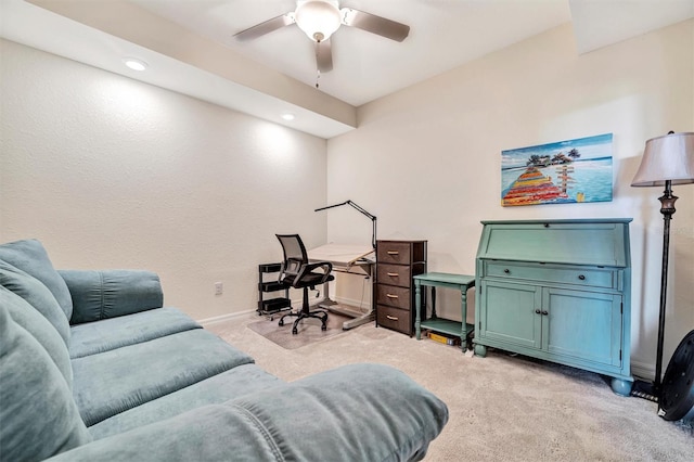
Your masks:
{"label": "black mesh-back office chair on wheels at the drafting desk", "polygon": [[306,247],[298,234],[275,234],[282,244],[284,252],[284,261],[280,270],[280,282],[295,288],[304,288],[304,303],[301,309],[292,311],[280,318],[280,325],[284,325],[284,318],[287,316],[296,316],[292,328],[293,334],[298,334],[297,325],[299,321],[306,318],[317,318],[322,322],[321,330],[325,331],[327,326],[327,311],[318,309],[311,311],[308,305],[308,290],[313,290],[317,285],[323,284],[335,279],[330,272],[333,265],[330,261],[317,261],[310,264]]}

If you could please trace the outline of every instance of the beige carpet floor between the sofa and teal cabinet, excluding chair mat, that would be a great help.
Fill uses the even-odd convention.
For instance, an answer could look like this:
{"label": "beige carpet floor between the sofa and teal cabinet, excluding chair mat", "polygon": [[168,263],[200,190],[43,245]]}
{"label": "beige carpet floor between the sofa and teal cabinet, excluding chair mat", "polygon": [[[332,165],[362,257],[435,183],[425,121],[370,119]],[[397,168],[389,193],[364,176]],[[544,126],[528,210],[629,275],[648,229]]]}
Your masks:
{"label": "beige carpet floor between the sofa and teal cabinet, excluding chair mat", "polygon": [[207,329],[285,381],[382,362],[434,392],[450,420],[426,461],[694,461],[691,427],[661,420],[651,401],[615,395],[593,373],[502,351],[466,357],[373,323],[291,350],[248,329],[254,321],[255,315]]}

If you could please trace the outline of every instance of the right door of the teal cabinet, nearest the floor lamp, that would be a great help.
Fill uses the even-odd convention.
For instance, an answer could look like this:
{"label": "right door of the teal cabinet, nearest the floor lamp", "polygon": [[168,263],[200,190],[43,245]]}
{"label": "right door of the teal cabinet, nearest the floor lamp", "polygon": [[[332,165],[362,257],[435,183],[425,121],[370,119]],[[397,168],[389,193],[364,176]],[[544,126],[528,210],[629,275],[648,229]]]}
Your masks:
{"label": "right door of the teal cabinet, nearest the floor lamp", "polygon": [[621,296],[544,288],[542,348],[553,355],[621,365]]}

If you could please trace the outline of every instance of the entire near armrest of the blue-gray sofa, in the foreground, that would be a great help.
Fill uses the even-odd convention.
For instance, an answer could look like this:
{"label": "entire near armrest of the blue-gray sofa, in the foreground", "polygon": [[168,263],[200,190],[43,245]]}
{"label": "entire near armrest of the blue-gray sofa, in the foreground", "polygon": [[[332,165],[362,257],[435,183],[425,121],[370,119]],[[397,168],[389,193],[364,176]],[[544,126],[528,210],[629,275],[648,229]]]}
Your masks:
{"label": "entire near armrest of the blue-gray sofa, in the foreground", "polygon": [[402,372],[351,364],[100,439],[59,461],[416,461],[448,408]]}

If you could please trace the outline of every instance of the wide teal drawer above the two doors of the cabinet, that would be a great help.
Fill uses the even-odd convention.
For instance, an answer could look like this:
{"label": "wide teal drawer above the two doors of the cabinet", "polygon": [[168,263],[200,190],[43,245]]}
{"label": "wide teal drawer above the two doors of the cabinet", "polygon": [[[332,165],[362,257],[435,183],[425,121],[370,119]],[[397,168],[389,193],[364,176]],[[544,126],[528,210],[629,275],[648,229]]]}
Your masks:
{"label": "wide teal drawer above the two doors of the cabinet", "polygon": [[504,261],[487,261],[485,265],[485,275],[510,280],[532,280],[617,288],[617,271],[608,269],[565,268],[539,264],[517,265]]}

